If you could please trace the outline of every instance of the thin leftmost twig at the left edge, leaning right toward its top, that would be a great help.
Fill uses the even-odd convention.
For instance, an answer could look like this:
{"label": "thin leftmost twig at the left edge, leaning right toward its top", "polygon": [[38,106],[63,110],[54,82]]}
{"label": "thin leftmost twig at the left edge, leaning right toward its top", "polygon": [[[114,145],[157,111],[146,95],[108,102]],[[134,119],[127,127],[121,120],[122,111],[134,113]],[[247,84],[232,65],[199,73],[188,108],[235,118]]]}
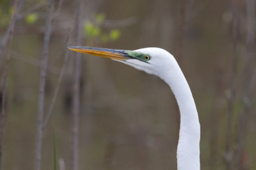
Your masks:
{"label": "thin leftmost twig at the left edge, leaning right toward its top", "polygon": [[[7,47],[7,54],[6,54],[6,63],[5,63],[5,69],[4,69],[4,78],[3,78],[3,99],[2,99],[2,108],[1,108],[1,115],[0,115],[0,170],[2,169],[2,159],[3,159],[3,138],[4,138],[4,120],[6,115],[6,89],[7,89],[7,78],[8,78],[8,71],[10,66],[10,48],[12,43],[12,36],[13,36],[13,29],[15,26],[15,21],[17,17],[17,11],[18,11],[18,4],[20,4],[19,0],[15,0],[13,4],[13,15],[12,20],[10,23],[10,30],[8,32],[8,40],[6,40],[6,43],[8,41],[8,47]],[[0,54],[1,55],[1,54]]]}

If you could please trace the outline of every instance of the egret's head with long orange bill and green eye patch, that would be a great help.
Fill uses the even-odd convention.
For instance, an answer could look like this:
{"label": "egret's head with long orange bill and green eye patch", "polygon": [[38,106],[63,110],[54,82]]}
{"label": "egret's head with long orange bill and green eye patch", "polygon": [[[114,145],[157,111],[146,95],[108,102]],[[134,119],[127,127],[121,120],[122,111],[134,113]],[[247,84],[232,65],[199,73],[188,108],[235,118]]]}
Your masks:
{"label": "egret's head with long orange bill and green eye patch", "polygon": [[115,50],[88,46],[69,46],[68,49],[116,60],[156,76],[160,76],[163,71],[170,69],[173,62],[177,63],[169,52],[156,47],[138,50]]}

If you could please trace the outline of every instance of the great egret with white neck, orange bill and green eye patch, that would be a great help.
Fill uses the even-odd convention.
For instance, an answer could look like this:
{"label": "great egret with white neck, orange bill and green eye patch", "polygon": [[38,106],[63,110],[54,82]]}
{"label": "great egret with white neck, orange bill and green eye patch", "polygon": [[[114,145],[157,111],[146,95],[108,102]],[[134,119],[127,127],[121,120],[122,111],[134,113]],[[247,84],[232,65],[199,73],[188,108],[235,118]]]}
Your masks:
{"label": "great egret with white neck, orange bill and green eye patch", "polygon": [[172,89],[180,110],[180,134],[177,146],[177,169],[200,169],[200,123],[195,101],[173,55],[161,48],[113,50],[86,46],[70,46],[70,50],[106,57],[155,74]]}

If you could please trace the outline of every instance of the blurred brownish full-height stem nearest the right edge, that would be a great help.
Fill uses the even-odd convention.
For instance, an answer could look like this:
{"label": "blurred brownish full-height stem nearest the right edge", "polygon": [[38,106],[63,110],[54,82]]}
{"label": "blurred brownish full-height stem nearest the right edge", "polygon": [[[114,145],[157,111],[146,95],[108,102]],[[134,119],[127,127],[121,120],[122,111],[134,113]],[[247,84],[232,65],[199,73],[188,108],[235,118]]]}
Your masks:
{"label": "blurred brownish full-height stem nearest the right edge", "polygon": [[255,1],[246,1],[246,15],[247,15],[247,34],[246,34],[246,55],[245,66],[243,71],[243,85],[242,85],[242,101],[243,105],[239,114],[237,125],[237,167],[239,170],[248,169],[248,160],[246,160],[246,136],[247,136],[247,122],[250,116],[251,97],[250,84],[253,76],[253,56],[255,46]]}

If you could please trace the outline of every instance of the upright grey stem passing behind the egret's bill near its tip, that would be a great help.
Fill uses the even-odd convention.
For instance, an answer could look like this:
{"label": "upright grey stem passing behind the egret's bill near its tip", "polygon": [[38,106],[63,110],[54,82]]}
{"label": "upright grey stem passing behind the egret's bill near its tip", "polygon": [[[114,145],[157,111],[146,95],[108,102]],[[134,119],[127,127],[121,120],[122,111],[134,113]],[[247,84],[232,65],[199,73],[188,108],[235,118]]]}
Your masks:
{"label": "upright grey stem passing behind the egret's bill near its tip", "polygon": [[[76,20],[75,32],[76,43],[81,45],[81,0],[76,1]],[[72,111],[72,169],[78,170],[78,132],[79,132],[79,107],[80,107],[80,80],[81,80],[81,53],[76,53],[75,59],[75,80],[73,93],[73,111]]]}

